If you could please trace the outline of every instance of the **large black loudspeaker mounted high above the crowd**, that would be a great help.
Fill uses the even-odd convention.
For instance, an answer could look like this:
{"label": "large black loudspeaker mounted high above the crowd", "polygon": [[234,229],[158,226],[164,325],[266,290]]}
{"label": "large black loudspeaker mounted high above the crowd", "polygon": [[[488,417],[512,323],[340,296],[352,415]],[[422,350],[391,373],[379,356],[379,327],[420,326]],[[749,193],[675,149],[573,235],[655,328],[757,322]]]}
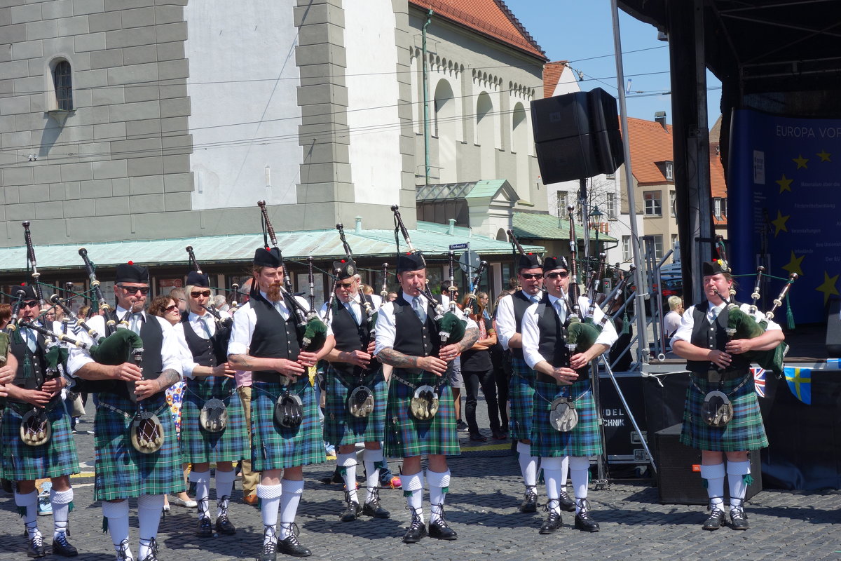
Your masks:
{"label": "large black loudspeaker mounted high above the crowd", "polygon": [[616,99],[600,87],[532,101],[544,185],[613,173],[625,161]]}

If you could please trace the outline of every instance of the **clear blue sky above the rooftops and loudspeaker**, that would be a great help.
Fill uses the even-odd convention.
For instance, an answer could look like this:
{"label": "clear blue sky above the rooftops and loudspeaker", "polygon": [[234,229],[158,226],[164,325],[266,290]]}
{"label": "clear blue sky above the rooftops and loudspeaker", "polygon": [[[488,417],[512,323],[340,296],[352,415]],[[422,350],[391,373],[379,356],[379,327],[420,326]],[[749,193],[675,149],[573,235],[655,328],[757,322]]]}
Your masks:
{"label": "clear blue sky above the rooftops and loudspeaker", "polygon": [[[616,89],[616,62],[613,23],[609,0],[505,0],[550,61],[569,61],[584,72],[584,90],[602,87],[613,96]],[[631,78],[627,112],[631,117],[653,119],[665,111],[672,121],[669,95],[669,46],[657,39],[657,29],[619,11],[622,63]],[[627,79],[626,79],[627,82]],[[718,118],[720,83],[707,71],[707,111],[709,125]]]}

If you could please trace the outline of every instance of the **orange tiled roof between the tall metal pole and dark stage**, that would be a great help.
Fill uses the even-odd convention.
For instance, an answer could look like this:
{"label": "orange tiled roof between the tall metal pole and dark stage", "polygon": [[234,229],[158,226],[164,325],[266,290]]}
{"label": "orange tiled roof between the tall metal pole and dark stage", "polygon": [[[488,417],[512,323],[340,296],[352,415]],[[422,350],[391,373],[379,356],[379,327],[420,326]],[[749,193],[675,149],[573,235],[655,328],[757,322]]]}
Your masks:
{"label": "orange tiled roof between the tall metal pole and dark stage", "polygon": [[666,176],[656,161],[674,161],[672,127],[656,121],[628,117],[628,140],[631,144],[633,177],[640,185],[666,183]]}

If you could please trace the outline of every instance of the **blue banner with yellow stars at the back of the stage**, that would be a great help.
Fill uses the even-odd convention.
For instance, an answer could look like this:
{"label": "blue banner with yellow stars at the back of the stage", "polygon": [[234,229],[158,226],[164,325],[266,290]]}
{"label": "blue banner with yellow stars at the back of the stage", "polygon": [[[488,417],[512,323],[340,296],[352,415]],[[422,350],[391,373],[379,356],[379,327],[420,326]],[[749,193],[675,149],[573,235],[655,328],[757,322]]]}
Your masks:
{"label": "blue banner with yellow stars at the back of the stage", "polygon": [[[733,273],[762,265],[796,273],[789,298],[798,323],[826,320],[841,283],[841,120],[733,112],[727,206]],[[783,282],[764,284],[768,311]],[[738,298],[750,301],[753,282]],[[783,319],[785,302],[776,312]]]}

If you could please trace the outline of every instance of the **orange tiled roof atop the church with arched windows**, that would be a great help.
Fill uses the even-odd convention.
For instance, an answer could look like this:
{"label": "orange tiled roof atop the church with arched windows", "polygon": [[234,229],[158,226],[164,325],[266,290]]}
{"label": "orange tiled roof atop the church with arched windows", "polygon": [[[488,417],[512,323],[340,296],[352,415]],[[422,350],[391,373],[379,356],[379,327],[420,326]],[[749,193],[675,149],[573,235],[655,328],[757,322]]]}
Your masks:
{"label": "orange tiled roof atop the church with arched windows", "polygon": [[540,45],[503,0],[409,0],[409,3],[424,10],[432,9],[437,16],[547,60]]}

